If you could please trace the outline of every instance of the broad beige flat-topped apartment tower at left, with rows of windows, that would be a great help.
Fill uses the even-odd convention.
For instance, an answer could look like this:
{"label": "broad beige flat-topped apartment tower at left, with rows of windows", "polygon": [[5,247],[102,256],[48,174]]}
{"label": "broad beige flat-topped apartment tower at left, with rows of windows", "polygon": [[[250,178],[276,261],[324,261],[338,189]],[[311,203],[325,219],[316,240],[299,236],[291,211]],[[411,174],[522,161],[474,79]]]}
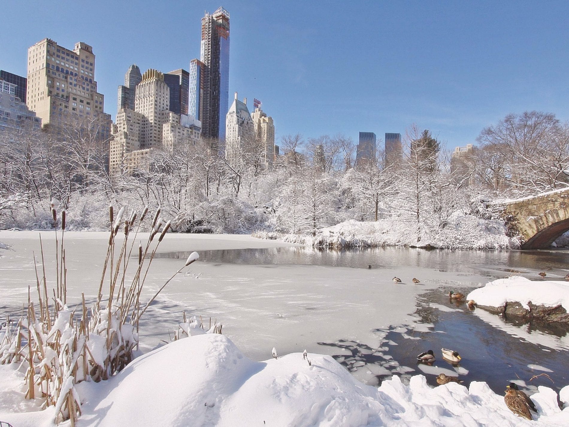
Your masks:
{"label": "broad beige flat-topped apartment tower at left, with rows of windows", "polygon": [[104,113],[104,96],[97,92],[95,55],[86,43],[69,50],[51,39],[28,48],[26,102],[43,126],[65,126],[100,119],[97,137],[110,137],[112,121]]}

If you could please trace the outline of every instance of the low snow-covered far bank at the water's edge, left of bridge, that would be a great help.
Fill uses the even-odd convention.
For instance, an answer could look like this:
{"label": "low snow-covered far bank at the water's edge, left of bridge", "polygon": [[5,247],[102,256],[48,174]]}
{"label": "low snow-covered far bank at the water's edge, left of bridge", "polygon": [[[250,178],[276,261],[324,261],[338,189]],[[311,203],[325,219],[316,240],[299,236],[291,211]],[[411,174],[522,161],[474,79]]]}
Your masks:
{"label": "low snow-covered far bank at the water's edge, left of bridge", "polygon": [[471,215],[451,217],[445,228],[417,232],[414,224],[397,219],[348,220],[322,228],[316,236],[279,235],[258,232],[255,237],[280,239],[317,247],[410,246],[450,249],[519,248],[519,240],[506,236],[503,221],[484,220]]}

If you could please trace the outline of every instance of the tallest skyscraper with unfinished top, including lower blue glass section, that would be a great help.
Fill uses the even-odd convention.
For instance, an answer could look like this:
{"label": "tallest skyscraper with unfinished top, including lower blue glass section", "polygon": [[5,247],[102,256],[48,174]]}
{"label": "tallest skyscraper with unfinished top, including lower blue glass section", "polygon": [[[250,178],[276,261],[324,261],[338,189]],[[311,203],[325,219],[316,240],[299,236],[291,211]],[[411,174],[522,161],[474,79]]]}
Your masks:
{"label": "tallest skyscraper with unfinished top, including lower blue glass section", "polygon": [[229,104],[229,13],[222,7],[201,18],[200,55],[190,63],[189,114],[201,121],[204,137],[223,140]]}

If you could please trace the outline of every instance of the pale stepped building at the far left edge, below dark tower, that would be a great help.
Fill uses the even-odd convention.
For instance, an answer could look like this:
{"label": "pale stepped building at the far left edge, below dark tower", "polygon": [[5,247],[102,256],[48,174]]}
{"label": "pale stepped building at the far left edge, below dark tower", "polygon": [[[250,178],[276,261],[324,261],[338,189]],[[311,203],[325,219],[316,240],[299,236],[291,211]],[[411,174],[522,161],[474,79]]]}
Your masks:
{"label": "pale stepped building at the far left edge, below dark tower", "polygon": [[25,102],[16,96],[17,93],[17,85],[0,78],[0,132],[6,129],[42,127],[42,119],[27,108]]}

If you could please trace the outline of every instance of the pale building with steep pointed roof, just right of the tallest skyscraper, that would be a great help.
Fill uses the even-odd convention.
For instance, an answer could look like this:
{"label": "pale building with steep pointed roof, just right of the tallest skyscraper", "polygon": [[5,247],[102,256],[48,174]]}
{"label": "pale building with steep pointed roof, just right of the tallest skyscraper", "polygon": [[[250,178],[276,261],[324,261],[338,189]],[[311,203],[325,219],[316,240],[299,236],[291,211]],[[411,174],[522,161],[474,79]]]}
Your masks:
{"label": "pale building with steep pointed roof, just right of the tallest skyscraper", "polygon": [[247,108],[247,98],[241,102],[237,99],[237,92],[235,92],[233,104],[225,116],[225,158],[229,164],[240,163],[253,142],[254,125]]}

